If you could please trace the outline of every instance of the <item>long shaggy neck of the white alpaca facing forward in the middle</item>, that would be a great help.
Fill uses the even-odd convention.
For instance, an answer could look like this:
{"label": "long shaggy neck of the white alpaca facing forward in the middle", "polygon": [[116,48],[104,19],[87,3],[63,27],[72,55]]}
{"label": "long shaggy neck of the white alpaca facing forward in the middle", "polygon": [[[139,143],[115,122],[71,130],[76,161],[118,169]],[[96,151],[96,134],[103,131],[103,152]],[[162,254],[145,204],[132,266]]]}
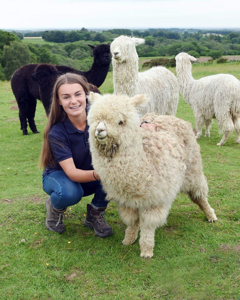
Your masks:
{"label": "long shaggy neck of the white alpaca facing forward in the middle", "polygon": [[128,95],[132,97],[136,95],[138,81],[138,60],[131,63],[123,61],[117,63],[113,61],[113,87],[114,94]]}

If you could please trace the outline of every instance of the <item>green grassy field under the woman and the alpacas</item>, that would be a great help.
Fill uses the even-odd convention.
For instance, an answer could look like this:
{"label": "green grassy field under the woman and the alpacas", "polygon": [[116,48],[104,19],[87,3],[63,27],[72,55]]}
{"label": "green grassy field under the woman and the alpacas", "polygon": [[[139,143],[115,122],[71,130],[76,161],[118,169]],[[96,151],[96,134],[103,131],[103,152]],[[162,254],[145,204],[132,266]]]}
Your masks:
{"label": "green grassy field under the woman and the alpacas", "polygon": [[[175,69],[171,69],[175,72]],[[195,79],[231,73],[239,64],[193,65]],[[113,92],[110,72],[100,87]],[[106,219],[114,235],[98,238],[84,227],[91,197],[67,209],[66,232],[45,227],[46,194],[38,158],[46,125],[37,104],[40,134],[22,136],[10,82],[0,82],[0,299],[1,300],[239,300],[240,146],[235,134],[224,146],[214,121],[211,137],[202,136],[209,203],[219,220],[208,223],[198,206],[179,194],[167,225],[156,230],[154,257],[141,259],[138,240],[121,244],[125,225],[110,203]],[[177,116],[192,123],[191,108],[180,96]]]}

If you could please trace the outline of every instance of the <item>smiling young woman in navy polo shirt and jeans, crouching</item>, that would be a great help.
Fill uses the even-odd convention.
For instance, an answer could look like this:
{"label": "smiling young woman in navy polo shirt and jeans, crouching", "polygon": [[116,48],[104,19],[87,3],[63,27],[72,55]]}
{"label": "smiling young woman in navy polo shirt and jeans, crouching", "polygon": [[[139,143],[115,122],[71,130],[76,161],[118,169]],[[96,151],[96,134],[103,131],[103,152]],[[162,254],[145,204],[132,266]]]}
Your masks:
{"label": "smiling young woman in navy polo shirt and jeans, crouching", "polygon": [[[104,219],[106,194],[91,166],[86,122],[88,91],[85,78],[74,73],[59,76],[53,87],[40,158],[44,168],[43,189],[49,195],[45,202],[46,227],[63,233],[67,206],[94,194],[91,204],[87,204],[84,225],[93,228],[96,235],[106,237],[113,230]],[[154,128],[144,122],[145,129],[149,126]]]}

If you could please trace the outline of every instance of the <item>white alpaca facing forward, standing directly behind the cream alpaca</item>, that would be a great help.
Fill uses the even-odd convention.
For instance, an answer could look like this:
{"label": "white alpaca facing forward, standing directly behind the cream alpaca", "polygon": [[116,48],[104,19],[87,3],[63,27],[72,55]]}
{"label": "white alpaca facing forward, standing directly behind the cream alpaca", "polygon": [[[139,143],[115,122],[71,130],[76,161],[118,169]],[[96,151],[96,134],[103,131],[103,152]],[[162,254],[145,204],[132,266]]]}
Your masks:
{"label": "white alpaca facing forward, standing directly behind the cream alpaca", "polygon": [[159,113],[176,115],[179,101],[179,86],[176,76],[165,67],[153,67],[138,72],[136,45],[145,42],[142,38],[121,35],[110,46],[113,64],[114,94],[132,97],[146,94],[150,101],[140,107],[141,115]]}

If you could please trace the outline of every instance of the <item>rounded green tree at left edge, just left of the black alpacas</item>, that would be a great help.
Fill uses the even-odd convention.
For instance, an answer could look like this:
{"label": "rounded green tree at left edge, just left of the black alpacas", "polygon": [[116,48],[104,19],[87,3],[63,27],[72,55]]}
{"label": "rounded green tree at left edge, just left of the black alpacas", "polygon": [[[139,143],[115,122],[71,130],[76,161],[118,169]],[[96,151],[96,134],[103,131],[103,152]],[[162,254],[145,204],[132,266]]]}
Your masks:
{"label": "rounded green tree at left edge, just left of the black alpacas", "polygon": [[5,45],[3,47],[2,66],[7,80],[10,80],[16,69],[30,62],[31,53],[28,45],[15,41],[10,46]]}

